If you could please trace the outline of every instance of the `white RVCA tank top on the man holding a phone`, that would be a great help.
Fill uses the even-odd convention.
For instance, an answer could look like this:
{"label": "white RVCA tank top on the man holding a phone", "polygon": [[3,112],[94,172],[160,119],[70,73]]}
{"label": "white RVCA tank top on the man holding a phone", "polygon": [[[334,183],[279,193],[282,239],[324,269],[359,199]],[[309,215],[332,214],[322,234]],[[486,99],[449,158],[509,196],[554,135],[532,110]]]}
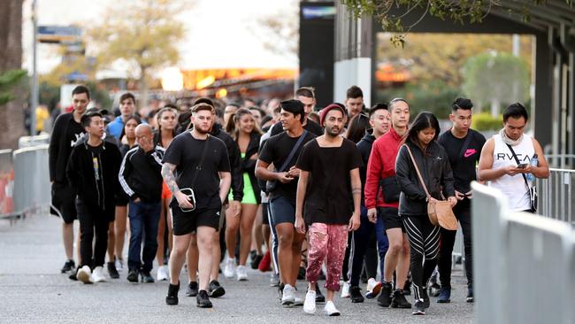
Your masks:
{"label": "white RVCA tank top on the man holding a phone", "polygon": [[[499,169],[505,166],[517,166],[517,161],[513,158],[510,148],[503,142],[501,135],[493,136],[495,140],[495,149],[493,150],[493,169]],[[535,154],[533,147],[533,138],[530,135],[523,135],[523,140],[513,150],[519,159],[519,163],[529,163]],[[525,180],[521,174],[513,176],[503,175],[494,181],[489,181],[489,187],[500,189],[509,199],[510,209],[514,212],[526,211],[531,209],[529,191],[525,185]]]}

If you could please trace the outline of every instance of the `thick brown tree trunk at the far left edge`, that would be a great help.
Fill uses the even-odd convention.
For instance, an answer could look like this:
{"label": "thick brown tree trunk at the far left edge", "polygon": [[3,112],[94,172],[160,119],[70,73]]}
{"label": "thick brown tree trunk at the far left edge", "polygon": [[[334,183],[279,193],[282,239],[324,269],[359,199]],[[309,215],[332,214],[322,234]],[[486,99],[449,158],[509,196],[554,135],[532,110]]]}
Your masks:
{"label": "thick brown tree trunk at the far left edge", "polygon": [[[11,84],[10,89],[0,103],[0,149],[16,148],[18,138],[25,134],[24,130],[24,102],[25,87],[19,80],[23,72],[22,67],[22,3],[23,0],[0,1],[0,83]],[[16,71],[14,71],[16,70]]]}

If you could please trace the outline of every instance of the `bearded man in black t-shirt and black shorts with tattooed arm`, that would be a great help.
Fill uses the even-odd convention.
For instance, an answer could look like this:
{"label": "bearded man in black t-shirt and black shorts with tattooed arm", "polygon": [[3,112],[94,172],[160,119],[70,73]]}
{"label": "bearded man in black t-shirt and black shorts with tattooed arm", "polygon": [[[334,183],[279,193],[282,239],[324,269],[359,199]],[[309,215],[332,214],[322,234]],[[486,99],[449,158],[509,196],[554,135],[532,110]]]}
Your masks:
{"label": "bearded man in black t-shirt and black shorts with tattooed arm", "polygon": [[[173,139],[164,155],[162,176],[173,193],[173,251],[170,254],[170,286],[165,303],[178,304],[180,271],[192,232],[196,231],[200,254],[198,307],[211,307],[208,297],[212,263],[212,237],[219,228],[219,213],[230,189],[232,175],[226,144],[209,135],[215,116],[211,104],[192,107],[194,129]],[[217,261],[216,261],[217,262]]]}

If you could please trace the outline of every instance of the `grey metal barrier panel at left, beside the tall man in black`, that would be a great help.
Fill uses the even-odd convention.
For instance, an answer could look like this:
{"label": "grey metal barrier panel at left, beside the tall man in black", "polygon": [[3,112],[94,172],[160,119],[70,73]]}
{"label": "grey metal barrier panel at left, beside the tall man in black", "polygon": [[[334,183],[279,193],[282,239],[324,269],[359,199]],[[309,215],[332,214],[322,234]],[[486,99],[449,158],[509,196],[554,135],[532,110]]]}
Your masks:
{"label": "grey metal barrier panel at left, beside the tall man in black", "polygon": [[19,215],[48,212],[50,208],[48,146],[41,144],[14,151],[14,212]]}

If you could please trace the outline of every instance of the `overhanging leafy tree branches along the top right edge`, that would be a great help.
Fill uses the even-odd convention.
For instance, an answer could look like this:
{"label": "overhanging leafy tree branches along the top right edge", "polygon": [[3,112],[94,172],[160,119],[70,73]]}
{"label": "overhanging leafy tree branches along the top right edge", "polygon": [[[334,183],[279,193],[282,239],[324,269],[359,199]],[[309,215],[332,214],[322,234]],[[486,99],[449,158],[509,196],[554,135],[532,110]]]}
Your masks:
{"label": "overhanging leafy tree branches along the top right edge", "polygon": [[[566,4],[573,4],[573,0],[564,1]],[[441,20],[450,19],[461,24],[478,23],[491,12],[492,8],[499,7],[506,12],[516,12],[524,21],[529,21],[532,5],[544,5],[547,2],[546,0],[528,0],[517,2],[513,8],[502,8],[502,4],[497,0],[341,0],[341,4],[345,4],[356,18],[364,14],[374,16],[380,21],[384,31],[397,33],[392,35],[390,41],[398,47],[403,47],[406,33],[409,33],[410,29],[426,15]],[[391,11],[396,8],[402,8],[402,12],[392,14]],[[406,23],[404,19],[407,19],[414,9],[423,9],[424,12],[414,22]]]}

